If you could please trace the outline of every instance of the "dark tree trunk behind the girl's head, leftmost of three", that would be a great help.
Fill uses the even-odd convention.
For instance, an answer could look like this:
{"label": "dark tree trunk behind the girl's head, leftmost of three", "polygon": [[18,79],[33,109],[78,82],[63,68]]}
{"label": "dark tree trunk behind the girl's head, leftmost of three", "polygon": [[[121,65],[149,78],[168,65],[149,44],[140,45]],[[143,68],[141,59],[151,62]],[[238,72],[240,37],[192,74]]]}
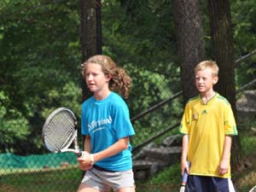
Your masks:
{"label": "dark tree trunk behind the girl's head, leftmost of three", "polygon": [[[82,62],[90,56],[102,54],[101,1],[80,0],[80,44]],[[83,101],[91,96],[84,79],[82,80]]]}

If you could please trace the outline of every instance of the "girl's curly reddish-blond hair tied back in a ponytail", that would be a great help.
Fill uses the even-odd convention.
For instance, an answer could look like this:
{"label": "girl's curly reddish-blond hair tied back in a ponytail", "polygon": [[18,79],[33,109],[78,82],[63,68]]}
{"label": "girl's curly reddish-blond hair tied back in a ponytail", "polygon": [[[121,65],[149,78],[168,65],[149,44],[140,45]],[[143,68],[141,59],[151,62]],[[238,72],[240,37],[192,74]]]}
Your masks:
{"label": "girl's curly reddish-blond hair tied back in a ponytail", "polygon": [[102,67],[102,72],[109,75],[109,90],[119,92],[125,99],[128,98],[131,88],[131,78],[125,73],[125,69],[117,67],[115,62],[107,55],[94,55],[82,64],[82,74],[85,78],[86,65],[95,63]]}

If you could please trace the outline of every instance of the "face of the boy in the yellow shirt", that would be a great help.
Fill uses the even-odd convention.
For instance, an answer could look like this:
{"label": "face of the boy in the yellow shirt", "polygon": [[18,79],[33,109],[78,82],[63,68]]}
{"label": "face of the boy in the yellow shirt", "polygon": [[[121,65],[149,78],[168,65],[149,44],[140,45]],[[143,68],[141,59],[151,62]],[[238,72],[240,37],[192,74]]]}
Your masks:
{"label": "face of the boy in the yellow shirt", "polygon": [[213,85],[218,82],[217,76],[212,76],[212,69],[205,68],[195,73],[195,85],[200,93],[207,93],[213,90]]}

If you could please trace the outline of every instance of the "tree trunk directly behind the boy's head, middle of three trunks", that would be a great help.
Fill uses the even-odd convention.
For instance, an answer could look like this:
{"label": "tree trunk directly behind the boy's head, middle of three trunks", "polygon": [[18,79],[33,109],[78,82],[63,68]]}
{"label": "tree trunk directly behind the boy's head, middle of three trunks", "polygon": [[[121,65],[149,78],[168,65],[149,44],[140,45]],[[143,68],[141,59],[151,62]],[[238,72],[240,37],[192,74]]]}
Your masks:
{"label": "tree trunk directly behind the boy's head, middle of three trunks", "polygon": [[194,68],[204,60],[205,43],[198,0],[174,0],[174,21],[177,26],[177,52],[181,67],[183,104],[198,95]]}

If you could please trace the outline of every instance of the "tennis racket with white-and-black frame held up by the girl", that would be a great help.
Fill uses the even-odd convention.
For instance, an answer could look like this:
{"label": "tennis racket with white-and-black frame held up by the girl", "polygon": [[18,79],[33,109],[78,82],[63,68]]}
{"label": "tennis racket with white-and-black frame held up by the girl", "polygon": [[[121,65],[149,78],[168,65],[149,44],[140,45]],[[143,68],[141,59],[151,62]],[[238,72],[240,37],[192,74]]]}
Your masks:
{"label": "tennis racket with white-and-black frame held up by the girl", "polygon": [[[82,156],[77,140],[77,125],[76,116],[70,109],[55,109],[44,122],[42,139],[45,148],[54,153],[73,152]],[[72,143],[74,148],[69,148]]]}

